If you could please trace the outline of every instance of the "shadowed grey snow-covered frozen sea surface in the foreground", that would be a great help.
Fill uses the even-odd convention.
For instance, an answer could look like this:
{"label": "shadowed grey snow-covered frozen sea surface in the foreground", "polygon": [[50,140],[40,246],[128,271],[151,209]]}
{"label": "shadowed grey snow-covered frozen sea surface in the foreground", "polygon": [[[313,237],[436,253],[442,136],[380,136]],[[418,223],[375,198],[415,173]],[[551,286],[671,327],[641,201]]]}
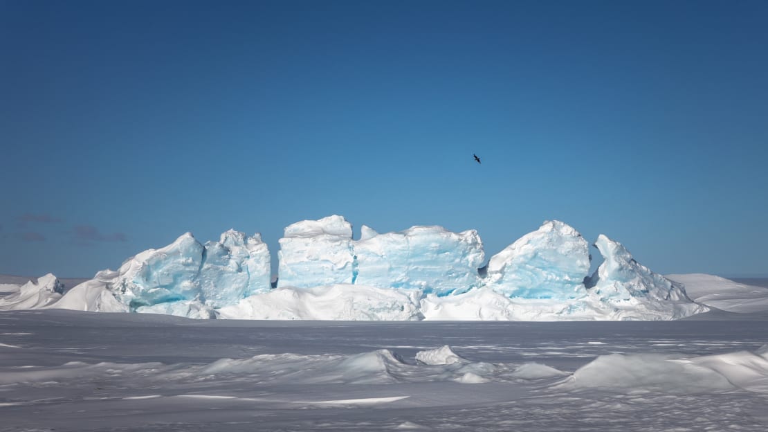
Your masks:
{"label": "shadowed grey snow-covered frozen sea surface in the foreground", "polygon": [[756,319],[194,321],[7,311],[0,430],[763,432],[768,321]]}

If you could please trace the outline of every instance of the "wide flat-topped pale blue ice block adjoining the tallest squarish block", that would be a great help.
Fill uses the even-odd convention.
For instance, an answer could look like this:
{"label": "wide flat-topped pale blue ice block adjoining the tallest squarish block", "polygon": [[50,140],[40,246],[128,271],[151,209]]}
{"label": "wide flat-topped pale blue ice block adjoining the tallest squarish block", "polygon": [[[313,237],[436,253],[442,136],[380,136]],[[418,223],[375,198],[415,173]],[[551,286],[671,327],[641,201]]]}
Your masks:
{"label": "wide flat-topped pale blue ice block adjoining the tallest squarish block", "polygon": [[364,226],[362,233],[353,244],[355,284],[449,294],[480,283],[478,267],[485,252],[475,230],[416,226],[376,234]]}

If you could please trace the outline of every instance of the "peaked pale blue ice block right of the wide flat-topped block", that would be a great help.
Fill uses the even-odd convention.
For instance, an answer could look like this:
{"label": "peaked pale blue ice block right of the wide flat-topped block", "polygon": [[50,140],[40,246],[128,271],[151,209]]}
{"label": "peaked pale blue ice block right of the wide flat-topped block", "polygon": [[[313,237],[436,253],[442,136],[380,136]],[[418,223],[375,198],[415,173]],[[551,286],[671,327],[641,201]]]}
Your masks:
{"label": "peaked pale blue ice block right of the wide flat-topped block", "polygon": [[487,284],[508,297],[581,297],[589,260],[589,244],[578,231],[561,221],[545,221],[491,258]]}

